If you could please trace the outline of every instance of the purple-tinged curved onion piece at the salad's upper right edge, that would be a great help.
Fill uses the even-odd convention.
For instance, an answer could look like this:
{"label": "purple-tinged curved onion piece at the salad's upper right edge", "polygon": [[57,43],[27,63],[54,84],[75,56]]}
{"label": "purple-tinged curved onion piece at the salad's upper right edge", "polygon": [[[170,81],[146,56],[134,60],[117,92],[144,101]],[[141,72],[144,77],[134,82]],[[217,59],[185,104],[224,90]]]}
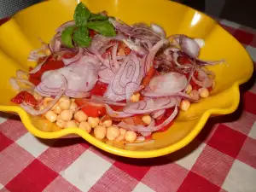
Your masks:
{"label": "purple-tinged curved onion piece at the salad's upper right edge", "polygon": [[180,38],[180,46],[185,54],[191,56],[192,58],[198,57],[200,46],[195,42],[194,39],[183,36]]}

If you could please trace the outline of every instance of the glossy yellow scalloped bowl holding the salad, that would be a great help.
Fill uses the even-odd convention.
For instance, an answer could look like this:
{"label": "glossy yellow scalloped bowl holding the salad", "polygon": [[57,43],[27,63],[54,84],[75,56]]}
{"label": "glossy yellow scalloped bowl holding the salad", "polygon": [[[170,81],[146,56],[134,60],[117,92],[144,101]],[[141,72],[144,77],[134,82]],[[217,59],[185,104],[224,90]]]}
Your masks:
{"label": "glossy yellow scalloped bowl holding the salad", "polygon": [[76,128],[55,132],[41,131],[44,130],[44,120],[32,118],[22,108],[10,102],[15,92],[9,85],[9,78],[15,76],[18,69],[28,71],[32,63],[26,61],[27,55],[30,50],[40,46],[38,38],[49,42],[58,26],[72,20],[76,1],[51,0],[39,3],[20,11],[0,26],[0,110],[18,113],[26,129],[33,135],[51,139],[75,134],[112,154],[149,158],[183,148],[195,138],[211,116],[236,110],[240,99],[239,85],[252,76],[253,62],[241,44],[215,20],[194,9],[165,0],[85,0],[84,3],[93,12],[107,10],[109,15],[117,16],[128,24],[154,22],[163,26],[167,35],[183,33],[192,38],[203,38],[206,46],[201,50],[201,58],[224,59],[226,62],[209,67],[216,73],[216,87],[211,96],[193,104],[188,112],[179,113],[168,131],[155,133],[155,143],[124,147],[120,143],[99,141]]}

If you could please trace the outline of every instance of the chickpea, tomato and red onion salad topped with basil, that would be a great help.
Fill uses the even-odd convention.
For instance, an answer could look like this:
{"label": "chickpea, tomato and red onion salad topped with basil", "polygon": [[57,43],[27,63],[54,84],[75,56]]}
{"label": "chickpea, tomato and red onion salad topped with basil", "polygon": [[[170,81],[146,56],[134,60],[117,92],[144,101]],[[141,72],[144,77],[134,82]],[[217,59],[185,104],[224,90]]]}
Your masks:
{"label": "chickpea, tomato and red onion salad topped with basil", "polygon": [[222,61],[199,59],[204,44],[183,34],[166,37],[156,24],[129,26],[79,3],[73,20],[28,56],[38,65],[9,79],[18,92],[11,101],[60,129],[154,142],[154,132],[166,131],[179,110],[214,89],[214,73],[205,66]]}

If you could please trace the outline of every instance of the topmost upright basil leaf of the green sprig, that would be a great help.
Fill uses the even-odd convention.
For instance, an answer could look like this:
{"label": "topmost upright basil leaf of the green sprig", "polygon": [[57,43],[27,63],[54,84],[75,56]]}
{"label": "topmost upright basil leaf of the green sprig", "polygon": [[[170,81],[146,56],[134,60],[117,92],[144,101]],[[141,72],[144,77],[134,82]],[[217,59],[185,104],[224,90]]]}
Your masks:
{"label": "topmost upright basil leaf of the green sprig", "polygon": [[85,7],[83,3],[79,3],[75,9],[73,20],[77,26],[84,26],[90,18],[90,10]]}

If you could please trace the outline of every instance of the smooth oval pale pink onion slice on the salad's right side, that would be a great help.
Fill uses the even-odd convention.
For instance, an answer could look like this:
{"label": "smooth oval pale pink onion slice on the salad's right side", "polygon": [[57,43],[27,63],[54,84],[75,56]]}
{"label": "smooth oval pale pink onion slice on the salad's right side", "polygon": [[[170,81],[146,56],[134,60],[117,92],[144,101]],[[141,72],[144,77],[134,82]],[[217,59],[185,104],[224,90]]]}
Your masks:
{"label": "smooth oval pale pink onion slice on the salad's right side", "polygon": [[149,88],[156,93],[175,94],[186,88],[186,76],[181,73],[166,73],[150,80]]}

